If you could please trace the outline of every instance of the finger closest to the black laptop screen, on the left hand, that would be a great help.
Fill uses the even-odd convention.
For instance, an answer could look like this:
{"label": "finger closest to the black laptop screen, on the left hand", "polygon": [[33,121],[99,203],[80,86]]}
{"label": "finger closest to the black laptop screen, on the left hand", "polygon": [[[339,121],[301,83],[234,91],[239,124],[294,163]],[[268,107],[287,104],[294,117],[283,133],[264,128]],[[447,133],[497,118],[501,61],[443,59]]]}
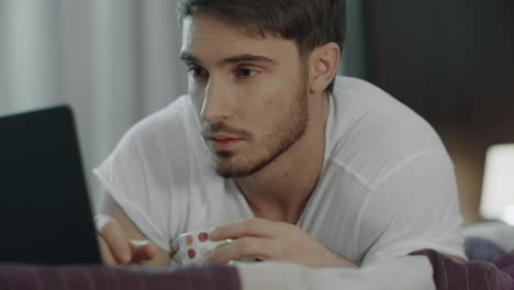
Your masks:
{"label": "finger closest to the black laptop screen, on the left hand", "polygon": [[96,219],[97,225],[103,222],[101,226],[97,226],[99,228],[98,232],[109,246],[118,264],[125,265],[130,263],[132,259],[132,248],[120,224],[112,219],[101,222],[98,220],[100,219]]}

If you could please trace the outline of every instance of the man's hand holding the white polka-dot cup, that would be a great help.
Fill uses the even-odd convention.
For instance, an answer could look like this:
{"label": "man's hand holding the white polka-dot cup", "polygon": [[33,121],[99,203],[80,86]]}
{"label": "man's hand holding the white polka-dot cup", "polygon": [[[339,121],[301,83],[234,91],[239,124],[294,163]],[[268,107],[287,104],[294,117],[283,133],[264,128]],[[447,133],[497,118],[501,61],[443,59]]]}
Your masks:
{"label": "man's hand holding the white polka-dot cup", "polygon": [[356,267],[329,252],[295,225],[262,219],[236,222],[213,228],[212,241],[232,238],[206,259],[206,264],[224,264],[241,258],[287,261],[310,267]]}

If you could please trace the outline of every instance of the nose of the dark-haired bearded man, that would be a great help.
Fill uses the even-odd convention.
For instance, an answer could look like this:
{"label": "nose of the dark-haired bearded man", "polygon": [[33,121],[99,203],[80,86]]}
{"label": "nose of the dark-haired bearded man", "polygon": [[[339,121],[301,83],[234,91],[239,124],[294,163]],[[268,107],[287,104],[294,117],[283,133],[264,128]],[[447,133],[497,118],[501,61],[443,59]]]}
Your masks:
{"label": "nose of the dark-haired bearded man", "polygon": [[204,93],[201,111],[204,121],[216,123],[232,118],[234,100],[227,85],[211,76]]}

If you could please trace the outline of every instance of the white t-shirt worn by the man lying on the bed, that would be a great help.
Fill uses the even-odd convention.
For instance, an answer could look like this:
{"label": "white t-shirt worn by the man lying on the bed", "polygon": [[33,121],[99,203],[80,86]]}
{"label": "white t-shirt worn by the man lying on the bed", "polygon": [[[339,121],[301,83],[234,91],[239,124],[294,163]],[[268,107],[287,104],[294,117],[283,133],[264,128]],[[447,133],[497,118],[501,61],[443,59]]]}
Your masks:
{"label": "white t-shirt worn by the man lying on the bed", "polygon": [[[322,176],[298,226],[362,268],[423,248],[465,257],[454,168],[434,130],[362,80],[338,77],[329,100]],[[141,231],[169,252],[181,233],[253,217],[209,154],[183,96],[133,126],[94,171]]]}

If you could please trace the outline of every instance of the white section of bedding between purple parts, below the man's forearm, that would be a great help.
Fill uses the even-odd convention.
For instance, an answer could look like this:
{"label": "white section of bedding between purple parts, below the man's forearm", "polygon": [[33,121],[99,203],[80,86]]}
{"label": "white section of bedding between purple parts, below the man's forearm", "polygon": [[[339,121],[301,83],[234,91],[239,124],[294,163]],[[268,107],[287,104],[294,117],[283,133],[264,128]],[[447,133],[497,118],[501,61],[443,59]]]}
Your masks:
{"label": "white section of bedding between purple parts, below the man's forearm", "polygon": [[423,256],[383,256],[358,269],[314,269],[281,263],[237,264],[243,290],[434,290],[433,270]]}

